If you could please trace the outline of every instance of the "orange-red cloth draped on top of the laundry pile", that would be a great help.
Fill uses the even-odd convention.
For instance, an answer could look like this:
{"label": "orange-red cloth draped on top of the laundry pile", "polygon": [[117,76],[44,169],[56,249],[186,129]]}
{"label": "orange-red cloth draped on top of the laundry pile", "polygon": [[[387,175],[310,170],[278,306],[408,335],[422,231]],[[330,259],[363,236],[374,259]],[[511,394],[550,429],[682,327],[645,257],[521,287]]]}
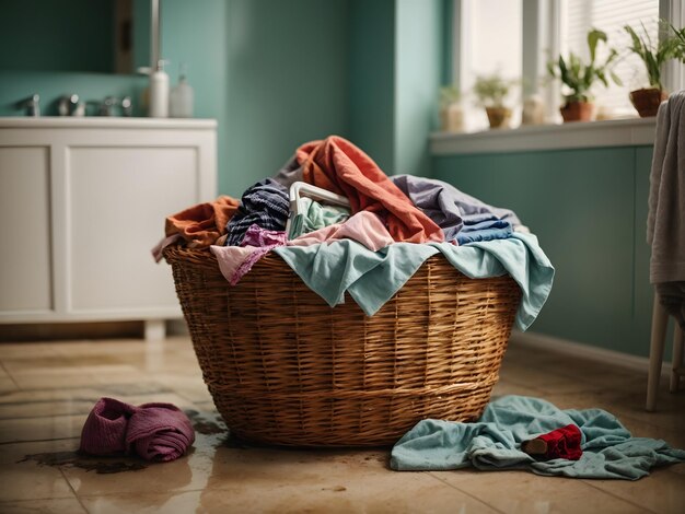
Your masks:
{"label": "orange-red cloth draped on top of the laundry pile", "polygon": [[370,211],[380,215],[393,240],[444,241],[442,229],[350,141],[338,136],[311,141],[297,150],[295,159],[302,166],[304,182],[346,196],[352,214]]}

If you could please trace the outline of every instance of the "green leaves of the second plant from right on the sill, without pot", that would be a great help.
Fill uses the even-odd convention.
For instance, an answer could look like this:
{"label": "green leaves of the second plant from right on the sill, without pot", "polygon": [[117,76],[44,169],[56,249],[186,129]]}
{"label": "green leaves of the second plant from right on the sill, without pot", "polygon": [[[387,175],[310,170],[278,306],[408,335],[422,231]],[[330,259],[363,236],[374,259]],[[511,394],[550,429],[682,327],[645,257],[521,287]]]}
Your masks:
{"label": "green leaves of the second plant from right on the sill, without pot", "polygon": [[617,85],[623,85],[620,79],[613,71],[618,59],[618,51],[609,47],[606,59],[603,62],[597,62],[596,49],[600,42],[607,44],[606,33],[596,28],[591,30],[588,33],[588,48],[590,49],[590,62],[588,63],[573,52],[569,52],[568,62],[562,56],[559,56],[556,61],[547,63],[549,74],[561,80],[571,90],[570,93],[564,95],[567,104],[590,102],[592,98],[590,89],[596,81],[608,87],[608,78],[611,78]]}

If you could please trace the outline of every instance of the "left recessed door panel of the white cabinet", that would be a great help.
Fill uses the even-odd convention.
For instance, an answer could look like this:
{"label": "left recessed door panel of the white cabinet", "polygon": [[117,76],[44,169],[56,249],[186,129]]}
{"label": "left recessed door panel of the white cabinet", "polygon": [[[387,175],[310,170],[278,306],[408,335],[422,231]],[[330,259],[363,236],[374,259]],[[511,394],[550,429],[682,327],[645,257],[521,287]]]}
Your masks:
{"label": "left recessed door panel of the white cabinet", "polygon": [[25,316],[53,308],[49,152],[0,148],[0,312]]}

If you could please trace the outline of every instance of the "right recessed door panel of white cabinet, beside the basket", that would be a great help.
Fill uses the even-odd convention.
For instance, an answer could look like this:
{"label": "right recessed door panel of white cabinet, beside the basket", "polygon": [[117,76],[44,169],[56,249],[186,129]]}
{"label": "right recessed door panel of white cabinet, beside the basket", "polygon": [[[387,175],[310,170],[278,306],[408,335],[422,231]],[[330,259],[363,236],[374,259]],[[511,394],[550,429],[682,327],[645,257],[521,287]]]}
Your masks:
{"label": "right recessed door panel of white cabinet, beside the basket", "polygon": [[71,148],[67,166],[69,311],[179,314],[170,267],[150,249],[164,218],[196,203],[195,148]]}

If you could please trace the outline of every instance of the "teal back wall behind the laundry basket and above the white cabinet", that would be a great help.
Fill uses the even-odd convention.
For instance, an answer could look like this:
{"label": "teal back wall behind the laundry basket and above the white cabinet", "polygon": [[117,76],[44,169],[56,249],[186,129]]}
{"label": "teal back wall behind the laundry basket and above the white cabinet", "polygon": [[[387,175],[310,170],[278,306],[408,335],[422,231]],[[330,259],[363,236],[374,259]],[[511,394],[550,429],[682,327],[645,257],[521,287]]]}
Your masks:
{"label": "teal back wall behind the laundry basket and above the white cabinet", "polygon": [[[219,122],[219,192],[240,196],[298,145],[333,133],[388,174],[428,175],[448,3],[163,0],[161,56],[171,83],[186,62],[195,116]],[[148,22],[135,27],[144,49]],[[0,67],[0,116],[21,116],[14,103],[32,93],[45,115],[56,114],[60,95],[77,93],[88,101],[129,95],[144,116],[146,86],[146,77]]]}

